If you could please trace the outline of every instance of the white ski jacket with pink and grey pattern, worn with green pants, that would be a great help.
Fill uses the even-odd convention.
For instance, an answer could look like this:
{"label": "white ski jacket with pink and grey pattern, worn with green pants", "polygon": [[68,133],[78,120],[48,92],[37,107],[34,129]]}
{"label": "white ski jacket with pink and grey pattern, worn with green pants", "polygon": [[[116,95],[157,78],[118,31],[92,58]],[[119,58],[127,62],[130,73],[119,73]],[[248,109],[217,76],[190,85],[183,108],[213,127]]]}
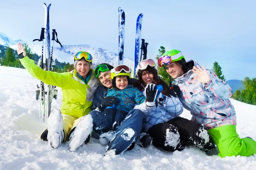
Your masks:
{"label": "white ski jacket with pink and grey pattern, worn with green pants", "polygon": [[[195,61],[194,65],[199,65]],[[182,95],[180,102],[192,114],[192,120],[204,125],[207,129],[223,125],[236,125],[236,112],[230,102],[232,90],[219,79],[215,73],[207,69],[210,82],[203,84],[193,77],[197,76],[189,70],[177,77],[172,83],[178,85]]]}

